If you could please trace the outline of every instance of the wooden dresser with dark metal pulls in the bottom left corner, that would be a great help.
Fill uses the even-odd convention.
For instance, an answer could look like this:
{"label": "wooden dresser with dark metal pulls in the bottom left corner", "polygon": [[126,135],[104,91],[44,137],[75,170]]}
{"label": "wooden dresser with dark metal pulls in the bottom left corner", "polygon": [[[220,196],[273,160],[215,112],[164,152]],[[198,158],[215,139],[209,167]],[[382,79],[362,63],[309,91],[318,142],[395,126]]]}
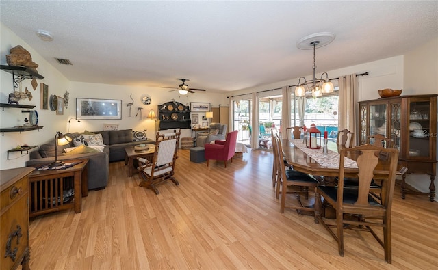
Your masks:
{"label": "wooden dresser with dark metal pulls in the bottom left corner", "polygon": [[1,269],[29,269],[29,174],[31,167],[0,170]]}

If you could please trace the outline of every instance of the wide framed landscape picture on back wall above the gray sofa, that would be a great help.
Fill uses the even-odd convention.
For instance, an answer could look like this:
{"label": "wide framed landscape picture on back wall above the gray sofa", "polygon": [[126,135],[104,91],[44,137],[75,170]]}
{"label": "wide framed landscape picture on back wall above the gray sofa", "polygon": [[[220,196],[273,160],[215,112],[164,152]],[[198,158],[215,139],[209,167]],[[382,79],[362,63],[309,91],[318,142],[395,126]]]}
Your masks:
{"label": "wide framed landscape picture on back wall above the gray sofa", "polygon": [[76,98],[78,120],[122,119],[122,100]]}

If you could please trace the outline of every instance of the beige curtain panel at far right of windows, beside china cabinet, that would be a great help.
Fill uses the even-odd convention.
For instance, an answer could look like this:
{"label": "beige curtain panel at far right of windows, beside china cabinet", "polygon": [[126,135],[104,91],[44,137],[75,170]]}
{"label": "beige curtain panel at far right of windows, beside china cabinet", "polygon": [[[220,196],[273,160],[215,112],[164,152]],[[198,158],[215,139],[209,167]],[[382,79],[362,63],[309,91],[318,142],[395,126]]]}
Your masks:
{"label": "beige curtain panel at far right of windows, beside china cabinet", "polygon": [[[348,129],[358,137],[359,83],[356,74],[339,77],[339,124],[338,129]],[[355,139],[357,141],[357,139]],[[353,144],[355,145],[355,144]]]}

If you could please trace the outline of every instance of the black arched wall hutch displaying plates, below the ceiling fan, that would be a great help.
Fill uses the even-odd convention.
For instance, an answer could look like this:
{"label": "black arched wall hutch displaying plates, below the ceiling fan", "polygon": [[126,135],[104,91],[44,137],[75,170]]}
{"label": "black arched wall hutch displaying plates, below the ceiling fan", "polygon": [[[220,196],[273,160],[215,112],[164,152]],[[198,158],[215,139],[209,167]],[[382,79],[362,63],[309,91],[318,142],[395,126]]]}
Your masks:
{"label": "black arched wall hutch displaying plates, below the ceiling fan", "polygon": [[190,129],[190,107],[176,101],[158,105],[159,129]]}

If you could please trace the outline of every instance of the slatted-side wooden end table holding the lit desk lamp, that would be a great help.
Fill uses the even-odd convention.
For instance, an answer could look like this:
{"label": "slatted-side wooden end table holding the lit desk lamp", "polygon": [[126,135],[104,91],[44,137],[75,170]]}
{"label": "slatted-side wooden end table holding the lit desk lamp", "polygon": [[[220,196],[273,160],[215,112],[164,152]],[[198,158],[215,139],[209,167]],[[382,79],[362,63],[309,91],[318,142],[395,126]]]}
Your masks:
{"label": "slatted-side wooden end table holding the lit desk lamp", "polygon": [[34,170],[29,175],[29,216],[74,208],[82,211],[82,197],[88,195],[88,159],[66,160],[78,163],[58,170]]}

